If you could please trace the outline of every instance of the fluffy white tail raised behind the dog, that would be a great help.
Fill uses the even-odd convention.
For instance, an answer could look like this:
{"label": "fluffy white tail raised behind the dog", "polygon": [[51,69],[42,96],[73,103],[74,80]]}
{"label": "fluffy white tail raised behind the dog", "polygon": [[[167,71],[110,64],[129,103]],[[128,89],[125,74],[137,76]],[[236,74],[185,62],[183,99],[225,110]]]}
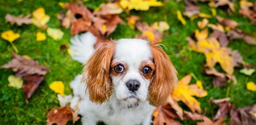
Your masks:
{"label": "fluffy white tail raised behind the dog", "polygon": [[97,38],[90,32],[75,35],[71,38],[70,55],[73,60],[84,64],[94,52]]}

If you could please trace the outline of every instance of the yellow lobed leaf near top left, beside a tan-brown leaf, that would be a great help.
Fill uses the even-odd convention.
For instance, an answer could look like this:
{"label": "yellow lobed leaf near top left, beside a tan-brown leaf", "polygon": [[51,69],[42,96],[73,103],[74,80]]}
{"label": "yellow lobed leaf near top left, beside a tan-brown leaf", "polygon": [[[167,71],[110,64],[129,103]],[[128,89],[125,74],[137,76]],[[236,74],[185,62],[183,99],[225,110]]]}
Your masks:
{"label": "yellow lobed leaf near top left, beside a tan-brown leaf", "polygon": [[38,8],[32,12],[32,23],[39,28],[46,29],[46,23],[49,22],[50,16],[45,14],[44,8]]}

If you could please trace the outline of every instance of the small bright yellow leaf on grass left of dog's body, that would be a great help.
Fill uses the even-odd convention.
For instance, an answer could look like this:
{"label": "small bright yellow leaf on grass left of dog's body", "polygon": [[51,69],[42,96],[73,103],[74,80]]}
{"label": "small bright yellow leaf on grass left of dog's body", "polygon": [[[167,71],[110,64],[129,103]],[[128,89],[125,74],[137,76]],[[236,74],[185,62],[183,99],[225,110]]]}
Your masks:
{"label": "small bright yellow leaf on grass left of dog's body", "polygon": [[61,94],[61,96],[64,96],[64,89],[65,86],[62,81],[53,81],[50,85],[49,88],[54,91],[55,93]]}

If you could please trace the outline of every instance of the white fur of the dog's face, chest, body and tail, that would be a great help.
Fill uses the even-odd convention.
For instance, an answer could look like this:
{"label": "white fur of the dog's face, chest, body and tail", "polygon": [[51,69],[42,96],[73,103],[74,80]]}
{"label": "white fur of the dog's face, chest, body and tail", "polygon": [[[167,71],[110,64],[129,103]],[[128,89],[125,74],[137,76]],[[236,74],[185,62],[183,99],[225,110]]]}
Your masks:
{"label": "white fur of the dog's face, chest, body and tail", "polygon": [[[85,34],[81,36],[86,40],[89,40],[87,37],[90,37]],[[81,36],[80,38],[82,38]],[[79,36],[75,36],[74,39],[72,39],[72,44],[74,44],[72,45],[72,49],[79,51],[76,51],[77,57],[73,58],[79,62],[85,62],[93,52],[87,53],[87,51],[83,51],[81,47],[83,47],[84,40],[79,40],[77,37]],[[87,42],[90,43],[89,41]],[[90,46],[92,48],[86,49],[92,50],[93,45]],[[96,104],[89,100],[88,94],[85,93],[86,84],[81,83],[82,75],[78,75],[71,82],[74,94],[71,108],[74,109],[81,99],[78,113],[82,115],[81,120],[83,125],[96,125],[98,121],[103,121],[107,125],[150,125],[151,114],[155,109],[146,101],[150,81],[143,79],[138,70],[141,62],[149,61],[150,57],[152,57],[152,55],[146,41],[139,39],[118,40],[114,60],[125,62],[129,70],[123,78],[112,77],[114,93],[110,96],[109,101],[103,102],[102,104]],[[134,98],[129,98],[131,92],[125,85],[128,80],[138,80],[140,82],[141,86],[136,91],[136,98],[139,99],[139,101]],[[132,105],[132,108],[128,108],[127,106],[129,105]]]}

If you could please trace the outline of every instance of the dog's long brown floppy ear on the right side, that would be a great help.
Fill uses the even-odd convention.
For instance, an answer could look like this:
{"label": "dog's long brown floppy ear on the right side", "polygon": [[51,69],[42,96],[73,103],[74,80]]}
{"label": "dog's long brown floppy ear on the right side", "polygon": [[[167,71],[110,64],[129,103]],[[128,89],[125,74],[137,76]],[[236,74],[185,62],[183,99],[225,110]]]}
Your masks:
{"label": "dog's long brown floppy ear on the right side", "polygon": [[169,57],[156,44],[151,44],[155,71],[148,88],[148,101],[153,106],[164,104],[177,83],[177,71]]}

